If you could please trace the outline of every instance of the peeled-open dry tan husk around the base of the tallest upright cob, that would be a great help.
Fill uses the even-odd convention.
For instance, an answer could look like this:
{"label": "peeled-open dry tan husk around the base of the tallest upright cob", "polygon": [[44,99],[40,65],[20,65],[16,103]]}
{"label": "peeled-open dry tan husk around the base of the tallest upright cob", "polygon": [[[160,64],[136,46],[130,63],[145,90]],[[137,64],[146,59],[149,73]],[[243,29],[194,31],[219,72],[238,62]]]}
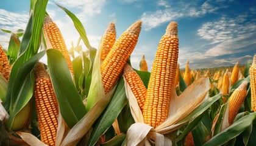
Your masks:
{"label": "peeled-open dry tan husk around the base of the tallest upright cob", "polygon": [[[208,90],[210,82],[207,78],[199,78],[191,86],[188,86],[185,91],[178,97],[175,88],[172,88],[171,104],[169,106],[168,118],[159,125],[153,128],[143,122],[143,115],[138,106],[137,100],[130,89],[129,84],[125,81],[126,96],[129,100],[130,110],[133,116],[134,123],[127,131],[127,145],[151,145],[149,139],[155,145],[172,145],[171,140],[163,134],[170,133],[182,127],[189,120],[194,119],[198,115],[186,117],[194,111],[199,105],[208,99]],[[184,120],[185,119],[185,120]]]}

